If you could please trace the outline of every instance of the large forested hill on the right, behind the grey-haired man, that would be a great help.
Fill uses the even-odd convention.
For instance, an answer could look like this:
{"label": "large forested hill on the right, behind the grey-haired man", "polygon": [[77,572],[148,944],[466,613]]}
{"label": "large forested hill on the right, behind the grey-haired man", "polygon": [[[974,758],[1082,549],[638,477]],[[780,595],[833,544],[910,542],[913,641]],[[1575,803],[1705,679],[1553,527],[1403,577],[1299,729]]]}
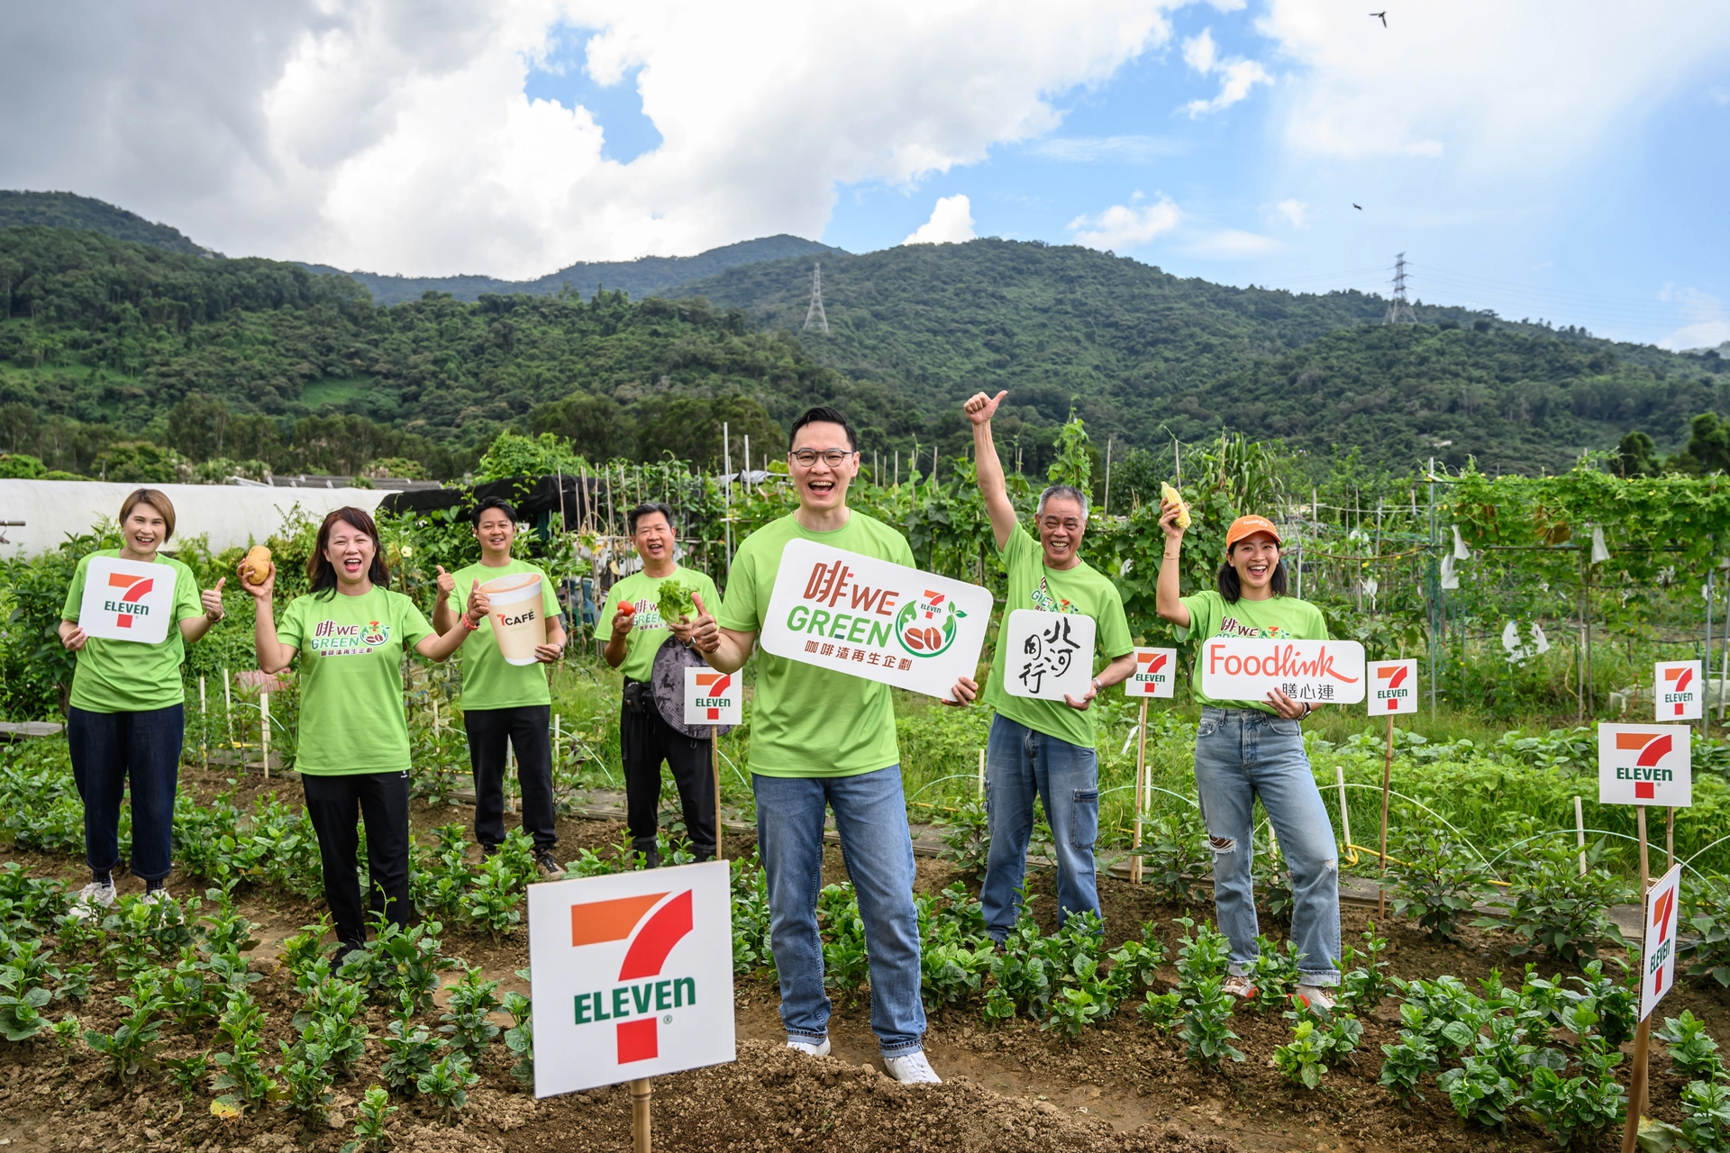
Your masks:
{"label": "large forested hill on the right, behind the grey-haired man", "polygon": [[[799,330],[810,264],[734,268],[680,292]],[[1434,449],[1529,472],[1635,427],[1676,448],[1688,417],[1730,410],[1718,358],[1427,304],[1422,323],[1384,327],[1379,296],[1233,289],[1074,245],[832,254],[823,308],[829,334],[801,332],[813,356],[896,387],[922,415],[1003,387],[1029,420],[1062,420],[1074,403],[1097,437],[1149,448],[1235,429],[1311,453],[1358,446],[1396,468]]]}

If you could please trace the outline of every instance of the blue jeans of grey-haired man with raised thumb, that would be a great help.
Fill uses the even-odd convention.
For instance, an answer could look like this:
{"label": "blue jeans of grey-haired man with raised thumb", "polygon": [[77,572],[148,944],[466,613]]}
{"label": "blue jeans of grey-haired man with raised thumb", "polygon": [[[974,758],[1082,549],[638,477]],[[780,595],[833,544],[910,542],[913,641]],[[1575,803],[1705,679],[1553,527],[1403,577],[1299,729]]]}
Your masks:
{"label": "blue jeans of grey-haired man with raised thumb", "polygon": [[1099,755],[1092,748],[1047,736],[1003,714],[991,719],[984,754],[984,799],[991,849],[979,904],[995,940],[1016,927],[1017,892],[1028,876],[1028,837],[1033,797],[1045,804],[1057,847],[1057,923],[1071,913],[1099,914],[1093,842],[1099,838]]}

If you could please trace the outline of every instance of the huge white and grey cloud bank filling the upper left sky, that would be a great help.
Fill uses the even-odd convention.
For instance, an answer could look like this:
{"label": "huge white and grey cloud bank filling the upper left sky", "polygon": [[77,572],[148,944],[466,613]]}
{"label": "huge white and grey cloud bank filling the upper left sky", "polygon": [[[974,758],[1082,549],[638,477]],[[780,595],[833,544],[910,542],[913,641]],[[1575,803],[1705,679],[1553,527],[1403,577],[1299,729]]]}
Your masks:
{"label": "huge white and grey cloud bank filling the upper left sky", "polygon": [[[164,17],[24,5],[0,183],[74,188],[234,254],[403,273],[822,235],[836,188],[912,183],[1059,124],[1169,40],[1178,0],[204,0]],[[602,156],[583,107],[528,100],[548,29],[635,71],[663,143]]]}

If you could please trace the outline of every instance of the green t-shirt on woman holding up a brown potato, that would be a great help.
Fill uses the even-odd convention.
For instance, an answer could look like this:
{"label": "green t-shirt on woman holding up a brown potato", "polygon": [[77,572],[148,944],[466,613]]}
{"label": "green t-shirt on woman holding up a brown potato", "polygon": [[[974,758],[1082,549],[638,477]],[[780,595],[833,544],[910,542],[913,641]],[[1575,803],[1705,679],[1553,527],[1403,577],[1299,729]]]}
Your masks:
{"label": "green t-shirt on woman holding up a brown potato", "polygon": [[296,596],[277,641],[299,650],[301,742],[294,768],[313,776],[408,769],[403,650],[432,626],[401,593]]}

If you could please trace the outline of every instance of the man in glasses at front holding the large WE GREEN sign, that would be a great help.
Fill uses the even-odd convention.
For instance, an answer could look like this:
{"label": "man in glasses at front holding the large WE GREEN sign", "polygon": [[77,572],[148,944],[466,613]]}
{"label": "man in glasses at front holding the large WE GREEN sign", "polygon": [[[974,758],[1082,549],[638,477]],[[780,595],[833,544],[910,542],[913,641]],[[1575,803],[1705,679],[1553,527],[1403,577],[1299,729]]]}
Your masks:
{"label": "man in glasses at front holding the large WE GREEN sign", "polygon": [[[751,655],[789,541],[817,541],[913,567],[905,536],[848,508],[848,484],[858,475],[860,455],[846,417],[818,406],[792,422],[787,463],[799,506],[739,546],[720,621],[697,602],[692,643],[721,672],[739,671]],[[977,685],[960,678],[952,691],[946,704],[965,705]],[[865,921],[870,1025],[884,1067],[903,1084],[939,1084],[924,1051],[913,840],[889,686],[759,653],[751,707],[751,790],[787,1048],[811,1056],[829,1053],[830,1003],[823,994],[823,942],[817,928],[827,806],[836,814]]]}

